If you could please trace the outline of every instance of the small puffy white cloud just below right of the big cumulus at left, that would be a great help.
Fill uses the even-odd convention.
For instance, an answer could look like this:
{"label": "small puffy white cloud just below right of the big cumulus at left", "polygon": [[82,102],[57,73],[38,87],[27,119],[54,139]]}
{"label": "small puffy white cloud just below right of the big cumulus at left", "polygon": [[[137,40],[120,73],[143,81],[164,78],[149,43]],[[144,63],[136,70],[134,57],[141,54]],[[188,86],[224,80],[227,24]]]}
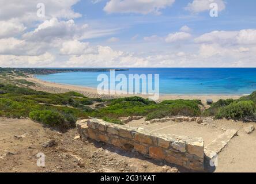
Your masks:
{"label": "small puffy white cloud just below right of the big cumulus at left", "polygon": [[82,43],[78,40],[63,42],[60,51],[62,55],[83,55],[96,52],[89,46],[89,43]]}

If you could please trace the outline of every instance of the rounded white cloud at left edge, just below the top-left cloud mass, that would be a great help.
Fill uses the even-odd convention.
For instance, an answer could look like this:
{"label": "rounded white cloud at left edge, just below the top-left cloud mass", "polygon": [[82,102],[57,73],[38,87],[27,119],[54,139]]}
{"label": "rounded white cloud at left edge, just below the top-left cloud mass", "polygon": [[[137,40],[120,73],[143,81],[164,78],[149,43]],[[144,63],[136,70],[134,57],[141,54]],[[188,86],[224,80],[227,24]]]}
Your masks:
{"label": "rounded white cloud at left edge, just below the top-left cloud mass", "polygon": [[17,21],[0,21],[0,27],[0,39],[17,36],[27,29],[24,24]]}

